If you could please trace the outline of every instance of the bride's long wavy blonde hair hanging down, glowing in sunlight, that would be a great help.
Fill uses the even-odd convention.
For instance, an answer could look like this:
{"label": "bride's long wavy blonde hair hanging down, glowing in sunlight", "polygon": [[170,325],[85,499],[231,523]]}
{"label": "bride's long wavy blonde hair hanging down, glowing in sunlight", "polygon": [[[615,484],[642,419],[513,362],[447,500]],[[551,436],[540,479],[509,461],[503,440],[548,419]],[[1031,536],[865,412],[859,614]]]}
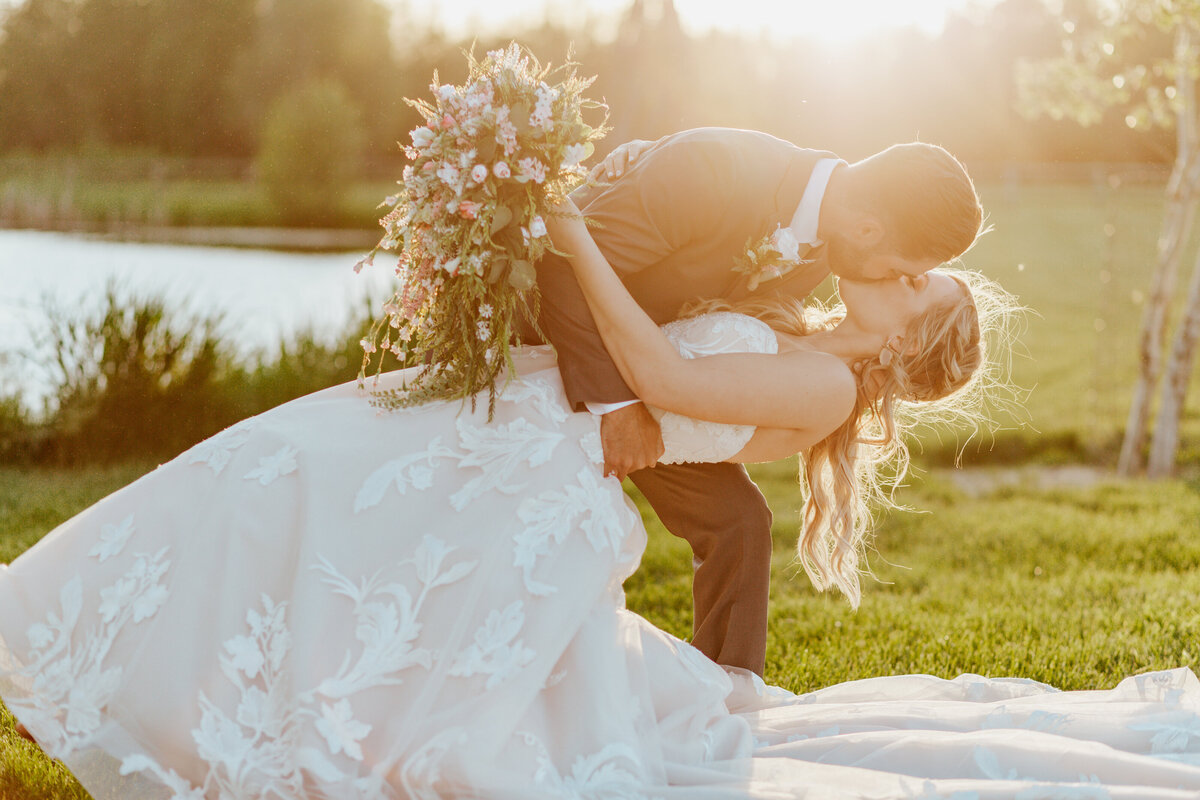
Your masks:
{"label": "bride's long wavy blonde hair hanging down, glowing in sunlight", "polygon": [[[978,272],[941,267],[962,285],[954,300],[914,317],[898,350],[853,365],[854,411],[836,431],[800,453],[805,491],[797,558],[818,590],[836,587],[858,607],[859,566],[872,506],[896,507],[895,491],[908,470],[905,434],[916,425],[966,422],[977,432],[988,401],[1008,387],[1015,297]],[[713,300],[688,315],[736,311],[773,329],[804,336],[833,329],[842,306],[805,306],[788,296]]]}

